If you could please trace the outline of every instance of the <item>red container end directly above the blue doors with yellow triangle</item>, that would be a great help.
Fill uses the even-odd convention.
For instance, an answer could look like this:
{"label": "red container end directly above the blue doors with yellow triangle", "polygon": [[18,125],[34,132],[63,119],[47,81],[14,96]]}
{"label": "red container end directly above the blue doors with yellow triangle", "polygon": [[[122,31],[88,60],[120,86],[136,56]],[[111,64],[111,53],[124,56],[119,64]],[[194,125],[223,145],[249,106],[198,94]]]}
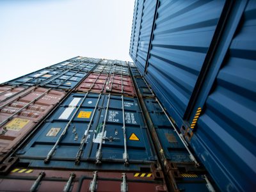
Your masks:
{"label": "red container end directly above the blue doors with yellow triangle", "polygon": [[92,73],[77,86],[78,92],[118,93],[127,96],[136,96],[130,76],[120,74]]}

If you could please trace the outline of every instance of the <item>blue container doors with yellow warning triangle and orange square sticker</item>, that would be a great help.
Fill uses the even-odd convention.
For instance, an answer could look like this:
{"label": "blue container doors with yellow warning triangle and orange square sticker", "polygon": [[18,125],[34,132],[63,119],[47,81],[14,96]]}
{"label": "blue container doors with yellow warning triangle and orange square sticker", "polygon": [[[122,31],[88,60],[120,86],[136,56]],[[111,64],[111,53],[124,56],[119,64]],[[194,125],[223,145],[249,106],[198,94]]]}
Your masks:
{"label": "blue container doors with yellow warning triangle and orange square sticker", "polygon": [[31,166],[86,170],[156,162],[138,100],[102,93],[71,93],[17,156]]}

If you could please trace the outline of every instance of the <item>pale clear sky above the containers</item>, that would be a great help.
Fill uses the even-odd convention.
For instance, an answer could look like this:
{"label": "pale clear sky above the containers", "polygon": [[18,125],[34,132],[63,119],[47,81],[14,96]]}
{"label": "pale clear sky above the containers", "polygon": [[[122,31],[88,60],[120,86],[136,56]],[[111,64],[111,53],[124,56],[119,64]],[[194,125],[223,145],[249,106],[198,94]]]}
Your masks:
{"label": "pale clear sky above the containers", "polygon": [[132,0],[1,0],[0,83],[75,56],[131,61]]}

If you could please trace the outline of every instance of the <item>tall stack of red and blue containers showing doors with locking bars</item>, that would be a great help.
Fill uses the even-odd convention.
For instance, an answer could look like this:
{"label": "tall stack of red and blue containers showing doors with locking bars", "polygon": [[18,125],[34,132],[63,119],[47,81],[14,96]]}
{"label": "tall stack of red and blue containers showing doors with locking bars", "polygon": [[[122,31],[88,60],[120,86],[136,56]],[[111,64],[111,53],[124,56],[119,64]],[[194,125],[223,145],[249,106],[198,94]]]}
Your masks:
{"label": "tall stack of red and blue containers showing doors with locking bars", "polygon": [[134,63],[72,58],[0,90],[0,191],[213,189]]}

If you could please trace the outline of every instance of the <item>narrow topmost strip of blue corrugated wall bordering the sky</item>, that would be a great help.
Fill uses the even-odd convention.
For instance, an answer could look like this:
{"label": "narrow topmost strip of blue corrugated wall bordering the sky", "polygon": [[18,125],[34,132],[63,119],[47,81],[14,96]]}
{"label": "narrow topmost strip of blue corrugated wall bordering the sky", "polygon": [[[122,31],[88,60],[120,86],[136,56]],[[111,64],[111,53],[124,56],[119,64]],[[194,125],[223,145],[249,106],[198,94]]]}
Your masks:
{"label": "narrow topmost strip of blue corrugated wall bordering the sky", "polygon": [[152,23],[154,20],[154,13],[156,10],[156,3],[157,1],[149,0],[145,1],[144,8],[143,8],[143,15],[141,18],[141,29],[140,29],[140,36],[138,40],[138,47],[136,50],[136,60],[137,65],[140,68],[145,68],[146,60],[147,60],[147,53],[148,53],[148,46],[150,42],[150,35],[152,31]]}

